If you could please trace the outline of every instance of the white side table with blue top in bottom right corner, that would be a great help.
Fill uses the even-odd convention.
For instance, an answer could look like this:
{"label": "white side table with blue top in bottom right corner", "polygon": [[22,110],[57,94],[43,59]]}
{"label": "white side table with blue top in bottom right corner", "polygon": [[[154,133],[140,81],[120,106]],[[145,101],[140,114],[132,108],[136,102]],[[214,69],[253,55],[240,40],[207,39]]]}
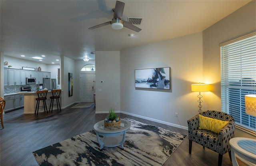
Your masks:
{"label": "white side table with blue top in bottom right corner", "polygon": [[256,164],[256,139],[235,137],[229,140],[233,166],[238,166],[235,154],[246,161]]}

